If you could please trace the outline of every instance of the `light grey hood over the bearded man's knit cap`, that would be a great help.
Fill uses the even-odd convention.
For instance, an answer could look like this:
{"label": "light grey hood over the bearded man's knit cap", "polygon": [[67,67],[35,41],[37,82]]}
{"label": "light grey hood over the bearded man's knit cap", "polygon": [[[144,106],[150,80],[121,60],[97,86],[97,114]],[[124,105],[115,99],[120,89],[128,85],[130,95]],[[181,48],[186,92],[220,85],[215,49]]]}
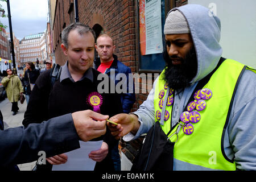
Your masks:
{"label": "light grey hood over the bearded man's knit cap", "polygon": [[184,5],[175,7],[171,11],[175,10],[179,10],[187,19],[196,49],[197,74],[191,81],[196,82],[213,71],[222,55],[222,48],[219,44],[220,19],[201,5]]}

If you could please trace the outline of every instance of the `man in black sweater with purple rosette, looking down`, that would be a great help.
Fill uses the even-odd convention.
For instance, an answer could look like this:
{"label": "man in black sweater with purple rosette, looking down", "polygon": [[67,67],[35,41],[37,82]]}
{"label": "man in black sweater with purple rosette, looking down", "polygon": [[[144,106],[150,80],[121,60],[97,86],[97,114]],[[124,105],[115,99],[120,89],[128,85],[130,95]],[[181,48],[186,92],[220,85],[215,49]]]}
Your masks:
{"label": "man in black sweater with purple rosette, looking down", "polygon": [[[92,28],[82,23],[72,23],[64,28],[61,35],[61,48],[68,61],[61,67],[60,78],[52,87],[49,78],[51,70],[39,76],[24,114],[24,126],[85,109],[110,116],[122,112],[117,94],[98,91],[100,81],[97,77],[101,73],[92,68],[95,43]],[[110,155],[116,140],[108,129],[97,140],[104,142],[100,150],[89,154],[89,158],[97,162],[94,170],[114,170]],[[62,164],[67,161],[66,158],[65,154],[61,154],[47,161],[50,164]]]}

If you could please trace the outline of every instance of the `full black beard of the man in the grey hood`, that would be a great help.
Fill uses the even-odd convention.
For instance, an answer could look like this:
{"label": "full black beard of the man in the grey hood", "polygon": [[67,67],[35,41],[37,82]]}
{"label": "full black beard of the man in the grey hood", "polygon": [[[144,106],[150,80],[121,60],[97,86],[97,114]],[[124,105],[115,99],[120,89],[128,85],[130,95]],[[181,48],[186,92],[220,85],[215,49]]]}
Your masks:
{"label": "full black beard of the man in the grey hood", "polygon": [[191,85],[189,82],[196,76],[197,73],[197,57],[195,48],[192,47],[184,59],[178,56],[172,56],[172,59],[180,59],[181,64],[174,65],[167,53],[164,50],[164,60],[166,61],[166,71],[164,72],[164,80],[168,83],[169,88],[184,89]]}

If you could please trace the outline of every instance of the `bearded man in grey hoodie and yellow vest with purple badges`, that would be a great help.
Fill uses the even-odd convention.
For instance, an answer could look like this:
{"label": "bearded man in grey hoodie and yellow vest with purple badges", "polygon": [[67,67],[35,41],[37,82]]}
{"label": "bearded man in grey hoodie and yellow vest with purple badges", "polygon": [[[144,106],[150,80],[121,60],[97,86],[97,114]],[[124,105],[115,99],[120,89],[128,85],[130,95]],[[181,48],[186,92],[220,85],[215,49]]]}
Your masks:
{"label": "bearded man in grey hoodie and yellow vest with purple badges", "polygon": [[255,170],[255,70],[221,57],[220,30],[203,6],[172,9],[166,68],[137,111],[110,118],[119,123],[108,123],[112,134],[129,141],[159,123],[175,143],[174,170]]}

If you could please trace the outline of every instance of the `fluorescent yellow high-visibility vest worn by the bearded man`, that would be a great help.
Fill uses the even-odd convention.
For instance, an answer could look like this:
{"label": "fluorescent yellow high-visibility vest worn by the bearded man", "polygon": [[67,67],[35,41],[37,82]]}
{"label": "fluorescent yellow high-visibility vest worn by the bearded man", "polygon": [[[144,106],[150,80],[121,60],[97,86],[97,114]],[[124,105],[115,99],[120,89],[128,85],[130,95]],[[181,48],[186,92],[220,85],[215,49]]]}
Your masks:
{"label": "fluorescent yellow high-visibility vest worn by the bearded man", "polygon": [[[199,111],[201,115],[200,121],[192,123],[194,127],[193,133],[186,135],[182,129],[180,130],[179,139],[174,147],[175,159],[210,169],[236,170],[236,164],[225,156],[222,135],[225,134],[225,123],[228,122],[226,119],[231,108],[230,101],[243,68],[245,68],[243,64],[226,59],[217,71],[213,73],[208,83],[203,87],[212,90],[213,96],[210,100],[205,100],[207,103],[206,108],[203,111]],[[155,113],[157,110],[162,112],[159,107],[159,92],[164,88],[165,84],[163,73],[164,71],[156,83],[154,96]],[[161,127],[164,133],[167,134],[171,130],[172,106],[166,106],[166,110],[169,111],[170,117]],[[155,121],[159,120],[155,117]],[[176,127],[168,137],[176,131]],[[171,137],[171,141],[175,142],[175,140],[176,137],[174,135],[174,137]]]}

